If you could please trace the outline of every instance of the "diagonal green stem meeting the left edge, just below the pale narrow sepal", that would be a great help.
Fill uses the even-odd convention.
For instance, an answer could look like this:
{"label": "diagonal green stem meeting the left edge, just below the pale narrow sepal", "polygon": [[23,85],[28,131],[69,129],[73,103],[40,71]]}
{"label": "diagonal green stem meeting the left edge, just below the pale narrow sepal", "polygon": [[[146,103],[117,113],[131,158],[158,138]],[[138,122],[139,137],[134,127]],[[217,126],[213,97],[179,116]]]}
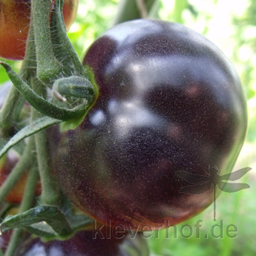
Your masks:
{"label": "diagonal green stem meeting the left edge, just below the pale narrow sepal", "polygon": [[30,137],[30,140],[27,143],[26,148],[24,149],[24,153],[20,158],[19,162],[13,168],[11,173],[8,175],[7,179],[1,185],[0,188],[0,202],[4,201],[4,198],[12,190],[13,186],[19,181],[20,177],[27,171],[35,160],[35,143],[33,137]]}

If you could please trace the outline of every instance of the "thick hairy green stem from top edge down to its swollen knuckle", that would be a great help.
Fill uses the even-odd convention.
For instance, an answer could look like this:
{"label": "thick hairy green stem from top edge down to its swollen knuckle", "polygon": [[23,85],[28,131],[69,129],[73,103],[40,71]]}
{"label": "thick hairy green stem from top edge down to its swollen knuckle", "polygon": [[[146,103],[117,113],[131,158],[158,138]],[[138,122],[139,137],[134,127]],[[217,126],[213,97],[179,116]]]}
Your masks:
{"label": "thick hairy green stem from top edge down to its swollen knuckle", "polygon": [[51,7],[51,0],[31,1],[31,15],[33,16],[36,42],[36,73],[42,83],[50,88],[54,80],[62,77],[62,65],[54,56],[50,38]]}

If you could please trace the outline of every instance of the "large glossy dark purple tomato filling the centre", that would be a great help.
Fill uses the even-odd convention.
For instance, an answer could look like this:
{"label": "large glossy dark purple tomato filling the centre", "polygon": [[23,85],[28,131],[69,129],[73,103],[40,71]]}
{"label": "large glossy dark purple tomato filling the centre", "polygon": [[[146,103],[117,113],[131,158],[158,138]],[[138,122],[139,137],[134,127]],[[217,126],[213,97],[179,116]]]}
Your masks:
{"label": "large glossy dark purple tomato filling the centre", "polygon": [[[176,171],[232,171],[247,127],[246,99],[232,64],[181,24],[125,22],[106,31],[83,61],[99,99],[75,130],[52,134],[65,194],[102,223],[126,229],[175,225],[206,209],[212,186]],[[211,180],[213,183],[216,180]]]}

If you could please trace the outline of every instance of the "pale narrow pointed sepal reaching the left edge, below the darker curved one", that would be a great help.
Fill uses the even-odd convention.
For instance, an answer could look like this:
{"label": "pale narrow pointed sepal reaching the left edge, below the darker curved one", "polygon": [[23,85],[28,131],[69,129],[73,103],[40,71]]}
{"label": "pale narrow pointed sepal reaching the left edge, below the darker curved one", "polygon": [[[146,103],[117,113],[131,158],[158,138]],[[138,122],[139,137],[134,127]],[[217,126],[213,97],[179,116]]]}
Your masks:
{"label": "pale narrow pointed sepal reaching the left edge, below the darker curved one", "polygon": [[42,118],[36,119],[30,125],[25,126],[21,131],[19,131],[16,135],[14,135],[5,145],[4,148],[0,151],[0,158],[10,149],[13,145],[16,145],[18,142],[23,140],[26,137],[29,137],[32,134],[36,134],[36,132],[41,131],[44,128],[47,128],[50,125],[56,125],[59,122],[62,122],[58,119],[53,119],[48,116],[44,116]]}

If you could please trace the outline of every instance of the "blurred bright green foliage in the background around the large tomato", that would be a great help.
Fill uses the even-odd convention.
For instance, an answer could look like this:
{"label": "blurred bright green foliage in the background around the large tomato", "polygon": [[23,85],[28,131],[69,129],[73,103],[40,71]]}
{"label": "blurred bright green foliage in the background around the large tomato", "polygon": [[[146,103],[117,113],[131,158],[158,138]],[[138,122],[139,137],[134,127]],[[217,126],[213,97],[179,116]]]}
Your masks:
{"label": "blurred bright green foliage in the background around the large tomato", "polygon": [[[132,1],[132,0],[128,0]],[[79,0],[79,10],[76,22],[70,28],[68,36],[80,58],[86,48],[111,27],[116,12],[118,0]],[[232,60],[241,82],[245,88],[249,106],[249,132],[246,145],[243,148],[234,169],[246,166],[256,168],[256,1],[255,0],[158,0],[149,13],[150,18],[180,22],[199,33],[203,33],[214,42],[229,59]],[[19,68],[19,62],[9,62]],[[0,68],[0,83],[7,80],[3,68]],[[254,143],[252,143],[254,142]],[[204,256],[204,255],[256,255],[254,238],[256,235],[256,175],[251,171],[243,179],[251,188],[239,193],[222,193],[217,200],[217,221],[213,219],[213,206],[186,222],[193,228],[189,238],[178,233],[174,238],[172,228],[170,238],[165,239],[165,230],[150,233],[151,255],[165,256]],[[195,234],[194,225],[197,220],[203,220],[201,237]],[[237,226],[238,235],[229,238],[206,239],[205,234],[215,224],[223,220],[223,229],[229,224]],[[177,226],[177,229],[184,223]],[[184,234],[189,232],[184,229]]]}

